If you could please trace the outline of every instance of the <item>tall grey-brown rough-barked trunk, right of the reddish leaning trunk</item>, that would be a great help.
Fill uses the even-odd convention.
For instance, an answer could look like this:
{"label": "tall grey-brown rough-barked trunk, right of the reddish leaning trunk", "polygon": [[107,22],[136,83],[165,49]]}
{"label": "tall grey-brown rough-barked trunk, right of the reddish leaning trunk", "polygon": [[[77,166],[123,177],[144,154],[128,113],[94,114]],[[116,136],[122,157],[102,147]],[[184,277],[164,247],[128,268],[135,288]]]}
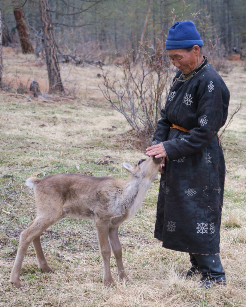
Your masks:
{"label": "tall grey-brown rough-barked trunk, right of the reddish leaning trunk", "polygon": [[59,63],[56,55],[56,45],[54,41],[48,0],[39,0],[39,5],[42,20],[44,48],[49,77],[50,93],[55,91],[64,92],[64,87],[62,85],[62,79],[60,75]]}

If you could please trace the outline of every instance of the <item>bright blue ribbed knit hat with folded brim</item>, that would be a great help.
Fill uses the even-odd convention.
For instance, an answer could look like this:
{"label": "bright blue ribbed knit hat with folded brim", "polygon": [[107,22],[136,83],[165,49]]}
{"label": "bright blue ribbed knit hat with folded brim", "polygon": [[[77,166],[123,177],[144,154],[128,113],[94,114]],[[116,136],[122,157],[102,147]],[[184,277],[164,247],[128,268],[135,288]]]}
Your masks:
{"label": "bright blue ribbed knit hat with folded brim", "polygon": [[203,46],[203,41],[194,23],[190,20],[176,21],[169,29],[166,50],[190,48],[194,45]]}

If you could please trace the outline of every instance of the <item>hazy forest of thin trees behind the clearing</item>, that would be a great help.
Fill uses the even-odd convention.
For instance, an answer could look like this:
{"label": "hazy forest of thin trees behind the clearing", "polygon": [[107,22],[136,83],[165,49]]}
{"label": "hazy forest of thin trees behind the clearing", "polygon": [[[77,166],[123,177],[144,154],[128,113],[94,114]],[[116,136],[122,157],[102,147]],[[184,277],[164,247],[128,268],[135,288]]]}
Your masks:
{"label": "hazy forest of thin trees behind the clearing", "polygon": [[[157,39],[165,40],[175,16],[194,20],[205,42],[219,38],[222,56],[246,43],[244,0],[49,0],[49,6],[57,46],[90,59],[114,58],[130,50],[136,53],[149,6],[145,37],[154,47]],[[39,1],[1,0],[1,7],[2,19],[15,41],[13,10],[23,8],[30,39],[36,43],[42,29]]]}

